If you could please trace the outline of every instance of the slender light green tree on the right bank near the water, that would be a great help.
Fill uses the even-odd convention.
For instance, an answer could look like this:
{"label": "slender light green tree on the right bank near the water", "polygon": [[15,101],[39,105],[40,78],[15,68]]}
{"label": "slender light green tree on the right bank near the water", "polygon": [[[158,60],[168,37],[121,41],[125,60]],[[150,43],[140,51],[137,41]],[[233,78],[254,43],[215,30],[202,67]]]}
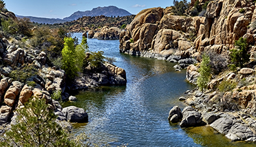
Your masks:
{"label": "slender light green tree on the right bank near the water", "polygon": [[199,73],[200,76],[198,77],[198,87],[201,91],[204,91],[206,89],[208,82],[211,78],[211,65],[210,58],[206,54],[202,55],[202,63],[200,65]]}

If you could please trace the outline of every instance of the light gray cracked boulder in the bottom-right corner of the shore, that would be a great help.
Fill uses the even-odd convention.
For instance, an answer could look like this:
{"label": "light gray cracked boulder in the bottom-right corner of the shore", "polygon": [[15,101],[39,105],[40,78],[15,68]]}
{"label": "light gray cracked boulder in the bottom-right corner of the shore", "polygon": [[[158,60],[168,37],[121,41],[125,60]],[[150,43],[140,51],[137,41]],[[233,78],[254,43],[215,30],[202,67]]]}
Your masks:
{"label": "light gray cracked boulder in the bottom-right corner of the shore", "polygon": [[255,137],[255,134],[249,127],[237,123],[231,127],[226,137],[232,141],[244,141],[251,140],[251,138]]}

